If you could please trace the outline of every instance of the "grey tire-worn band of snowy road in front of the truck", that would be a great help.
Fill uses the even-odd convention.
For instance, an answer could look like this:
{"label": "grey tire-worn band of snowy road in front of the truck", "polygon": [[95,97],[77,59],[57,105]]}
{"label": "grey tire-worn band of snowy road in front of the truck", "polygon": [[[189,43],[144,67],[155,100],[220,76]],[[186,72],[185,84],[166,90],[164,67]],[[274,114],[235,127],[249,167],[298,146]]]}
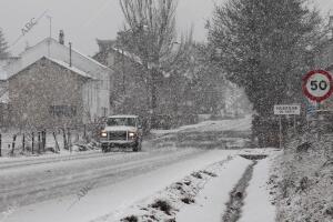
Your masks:
{"label": "grey tire-worn band of snowy road in front of the truck", "polygon": [[[18,165],[0,171],[0,209],[23,205],[79,192],[93,181],[94,186],[114,183],[151,171],[203,151],[113,153],[99,158],[49,161],[43,164]],[[2,165],[4,167],[4,165]]]}

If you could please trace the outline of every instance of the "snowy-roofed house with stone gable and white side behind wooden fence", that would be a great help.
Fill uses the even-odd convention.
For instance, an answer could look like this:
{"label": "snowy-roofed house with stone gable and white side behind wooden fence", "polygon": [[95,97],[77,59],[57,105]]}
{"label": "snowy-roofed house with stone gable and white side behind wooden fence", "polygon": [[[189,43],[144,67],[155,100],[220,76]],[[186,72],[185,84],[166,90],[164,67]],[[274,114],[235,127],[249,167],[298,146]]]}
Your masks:
{"label": "snowy-roofed house with stone gable and white side behind wooden fence", "polygon": [[3,70],[12,122],[20,127],[71,127],[111,113],[113,71],[47,38]]}

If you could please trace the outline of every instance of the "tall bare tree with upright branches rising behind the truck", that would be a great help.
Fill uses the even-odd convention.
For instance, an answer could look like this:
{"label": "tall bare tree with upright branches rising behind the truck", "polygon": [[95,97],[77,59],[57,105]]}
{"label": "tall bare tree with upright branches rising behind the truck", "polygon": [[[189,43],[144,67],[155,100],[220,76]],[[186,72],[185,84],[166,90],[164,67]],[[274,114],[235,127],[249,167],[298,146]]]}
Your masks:
{"label": "tall bare tree with upright branches rising behind the truck", "polygon": [[127,47],[140,58],[145,70],[143,78],[153,119],[158,107],[157,85],[163,74],[180,68],[191,46],[192,32],[178,41],[175,0],[120,0],[120,6],[125,18]]}

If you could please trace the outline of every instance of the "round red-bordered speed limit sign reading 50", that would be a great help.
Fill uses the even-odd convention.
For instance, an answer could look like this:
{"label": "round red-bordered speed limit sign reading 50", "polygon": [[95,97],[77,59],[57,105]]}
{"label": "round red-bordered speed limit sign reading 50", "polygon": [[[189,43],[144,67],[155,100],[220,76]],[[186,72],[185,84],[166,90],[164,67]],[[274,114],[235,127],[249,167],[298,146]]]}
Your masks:
{"label": "round red-bordered speed limit sign reading 50", "polygon": [[314,70],[303,78],[303,93],[313,101],[322,102],[333,92],[332,75],[325,70]]}

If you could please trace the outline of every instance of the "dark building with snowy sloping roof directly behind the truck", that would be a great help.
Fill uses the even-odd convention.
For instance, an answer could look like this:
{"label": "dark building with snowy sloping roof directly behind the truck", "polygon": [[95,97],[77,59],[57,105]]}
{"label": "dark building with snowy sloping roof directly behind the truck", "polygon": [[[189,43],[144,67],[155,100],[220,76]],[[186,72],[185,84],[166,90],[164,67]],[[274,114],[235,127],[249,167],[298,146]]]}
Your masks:
{"label": "dark building with snowy sloping roof directly behind the truck", "polygon": [[117,40],[97,40],[99,52],[93,57],[114,71],[111,105],[117,113],[147,115],[149,85],[141,59],[123,49]]}

